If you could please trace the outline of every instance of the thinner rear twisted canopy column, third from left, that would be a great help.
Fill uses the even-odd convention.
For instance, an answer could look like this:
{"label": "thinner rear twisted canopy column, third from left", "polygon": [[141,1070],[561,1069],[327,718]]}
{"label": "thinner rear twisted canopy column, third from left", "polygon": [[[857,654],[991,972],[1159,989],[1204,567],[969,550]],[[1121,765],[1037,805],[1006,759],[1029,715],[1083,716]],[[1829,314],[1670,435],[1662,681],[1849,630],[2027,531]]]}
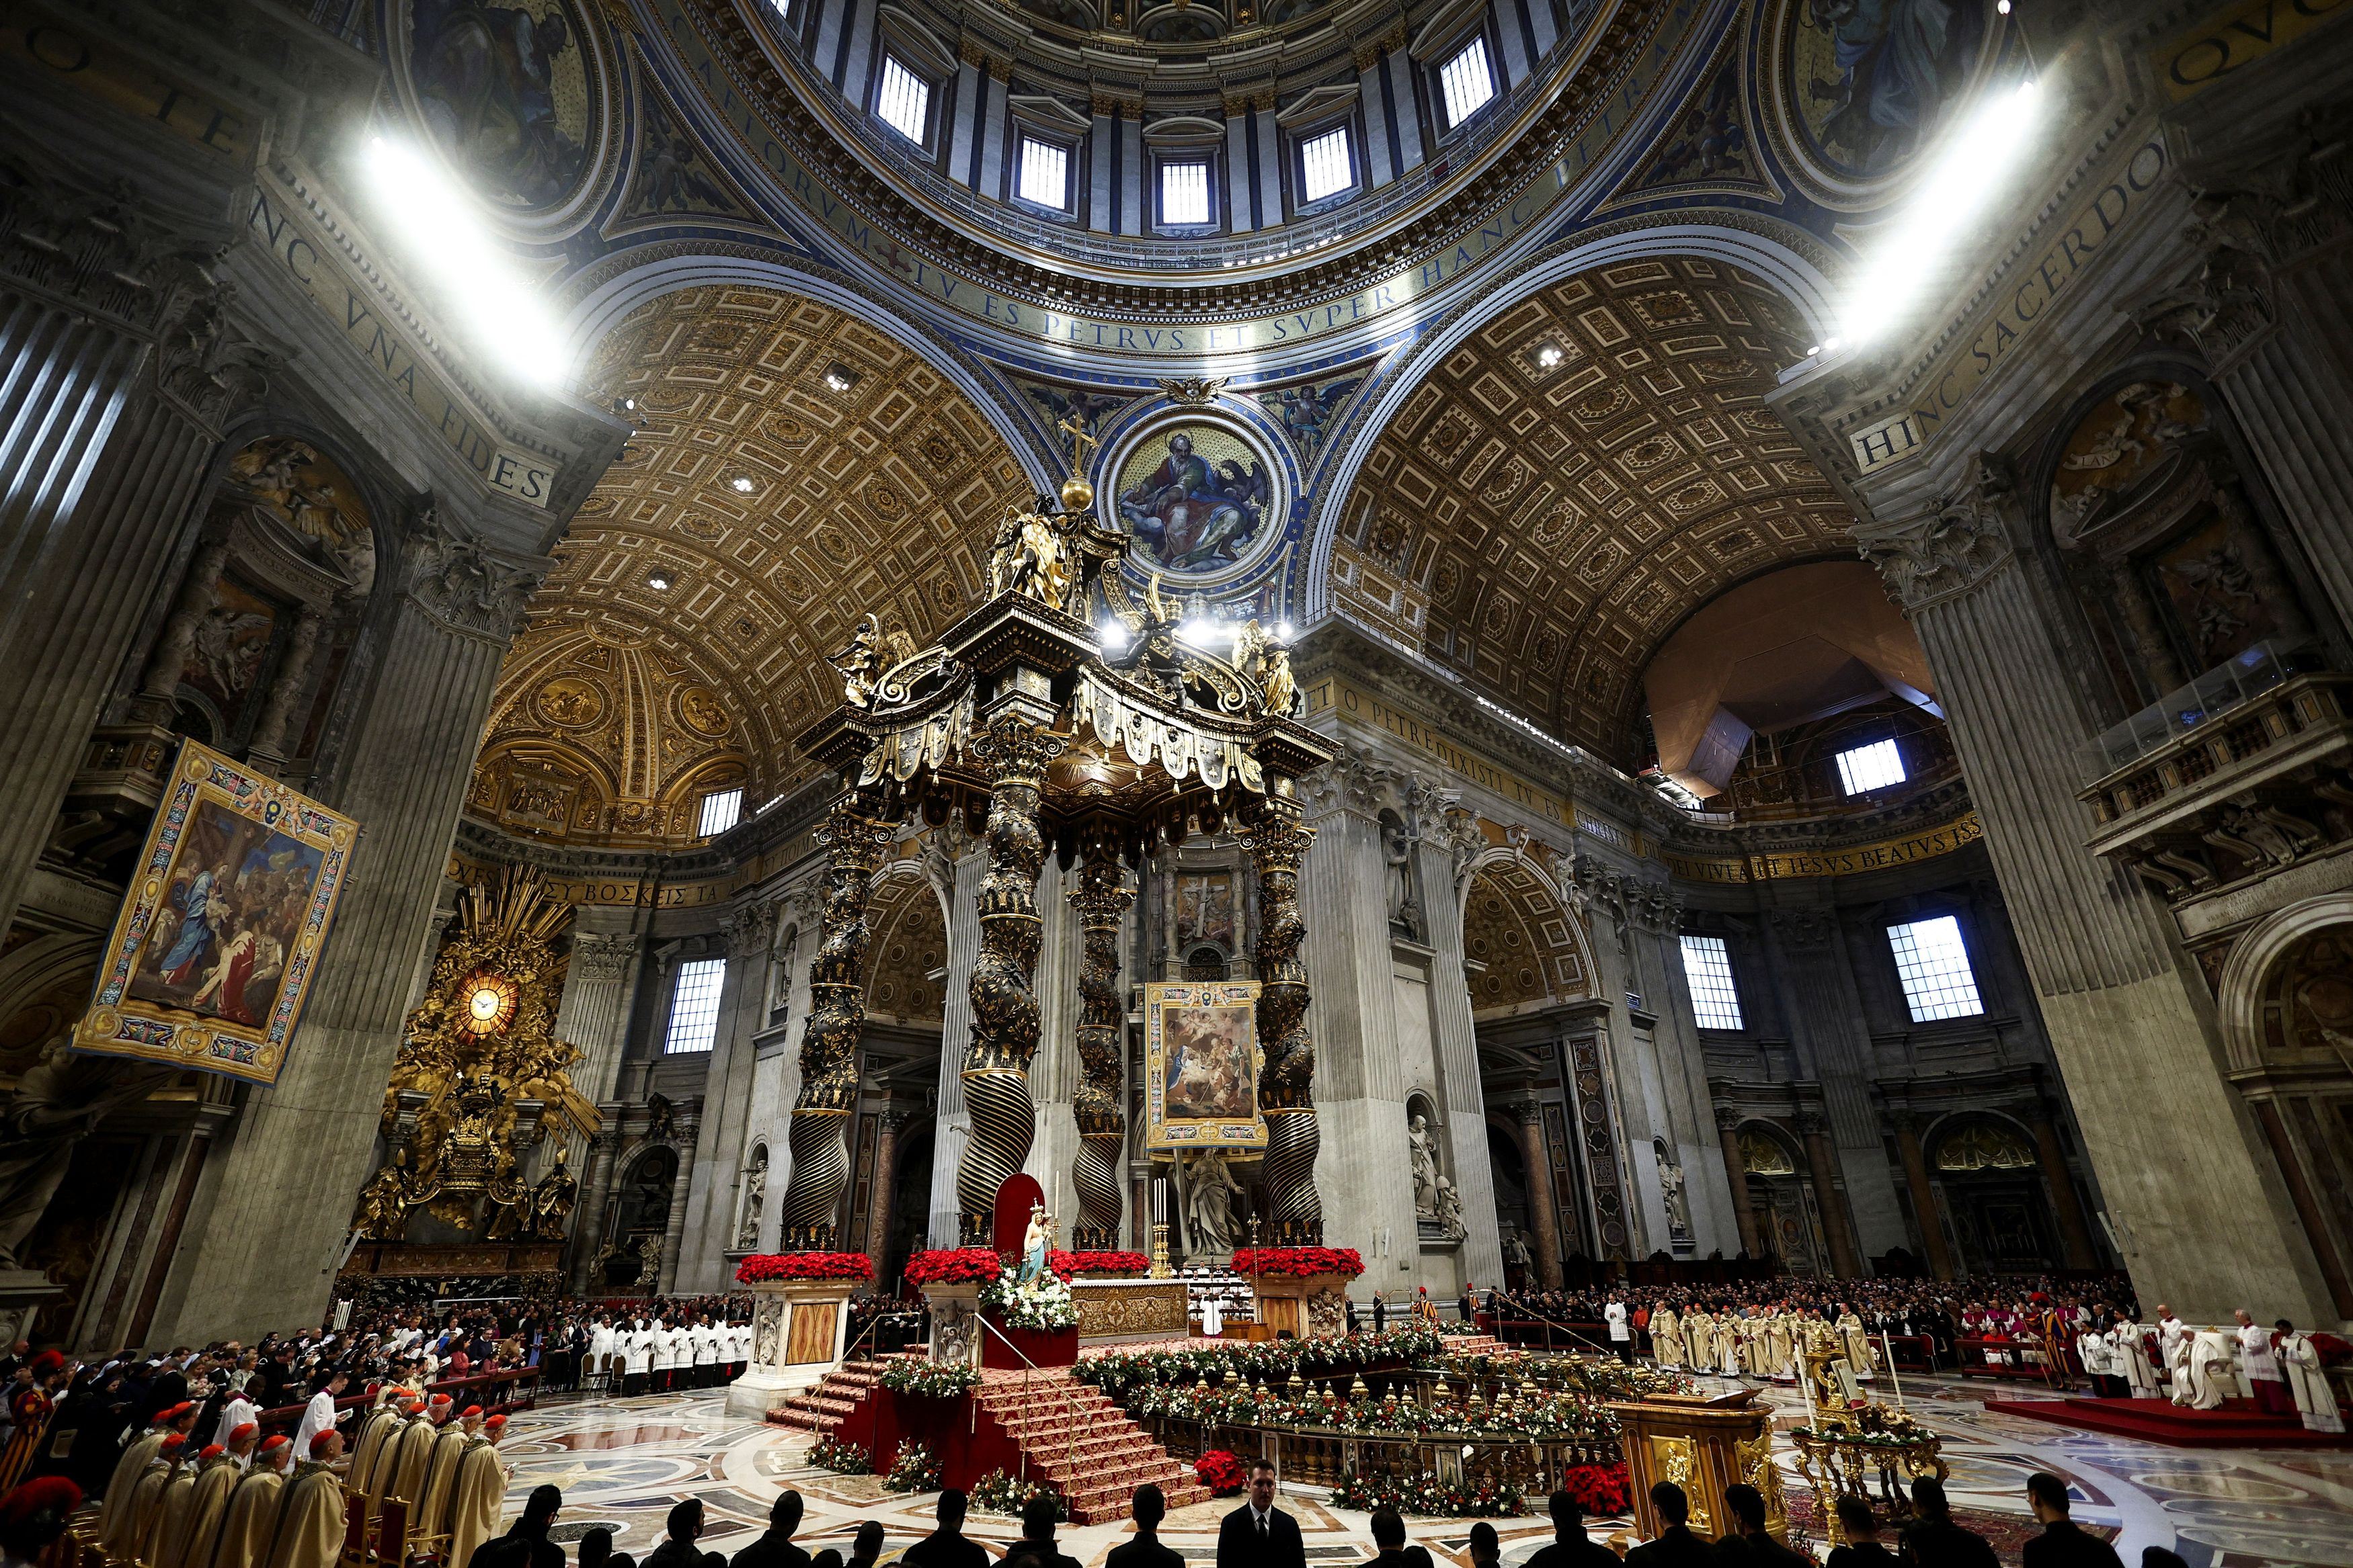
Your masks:
{"label": "thinner rear twisted canopy column, third from left", "polygon": [[1111,842],[1089,842],[1078,867],[1078,889],[1068,893],[1078,910],[1078,1164],[1071,1185],[1078,1187],[1080,1220],[1073,1246],[1111,1251],[1120,1244],[1120,1157],[1127,1147],[1127,1077],[1120,1032],[1127,1009],[1120,1001],[1120,917],[1136,900],[1122,886],[1120,851]]}

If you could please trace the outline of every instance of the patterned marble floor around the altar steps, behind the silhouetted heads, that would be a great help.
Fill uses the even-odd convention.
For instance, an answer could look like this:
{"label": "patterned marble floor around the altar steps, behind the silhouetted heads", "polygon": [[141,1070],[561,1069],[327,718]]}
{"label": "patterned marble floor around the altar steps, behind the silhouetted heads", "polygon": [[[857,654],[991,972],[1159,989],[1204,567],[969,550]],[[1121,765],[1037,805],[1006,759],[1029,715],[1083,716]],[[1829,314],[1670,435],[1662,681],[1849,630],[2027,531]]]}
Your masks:
{"label": "patterned marble floor around the altar steps, behind the silhouetted heads", "polygon": [[[2141,1547],[2162,1544],[2193,1568],[2301,1566],[2353,1568],[2353,1453],[2313,1450],[2191,1450],[2160,1448],[1993,1413],[1984,1399],[2021,1396],[1984,1382],[1906,1380],[1913,1413],[1946,1434],[1953,1502],[2024,1514],[2026,1476],[2064,1474],[2075,1490],[2075,1516],[2120,1526],[2125,1563]],[[1795,1392],[1769,1389],[1781,1427],[1800,1425]],[[508,1516],[529,1488],[553,1481],[565,1490],[555,1528],[565,1542],[595,1526],[614,1530],[621,1552],[645,1556],[661,1540],[673,1502],[701,1497],[704,1547],[732,1554],[767,1526],[769,1500],[786,1486],[807,1500],[800,1544],[838,1547],[866,1519],[887,1530],[885,1563],[932,1528],[932,1495],[899,1497],[875,1476],[835,1476],[807,1465],[809,1439],[729,1415],[722,1394],[647,1394],[640,1399],[555,1399],[518,1415],[501,1443],[515,1467]],[[1788,1472],[1798,1486],[1795,1469]],[[1217,1521],[1233,1502],[1179,1509],[1165,1526],[1167,1544],[1188,1559],[1217,1556]],[[1332,1509],[1325,1493],[1287,1493],[1299,1514],[1311,1563],[1355,1563],[1372,1556],[1367,1519]],[[1598,1533],[1621,1533],[1595,1526]],[[1468,1566],[1468,1521],[1407,1521],[1412,1537],[1435,1556]],[[1551,1537],[1537,1519],[1501,1519],[1504,1568],[1518,1568]],[[974,1514],[967,1533],[1002,1552],[1021,1530],[1012,1519]],[[1064,1552],[1094,1568],[1127,1526],[1061,1530]]]}

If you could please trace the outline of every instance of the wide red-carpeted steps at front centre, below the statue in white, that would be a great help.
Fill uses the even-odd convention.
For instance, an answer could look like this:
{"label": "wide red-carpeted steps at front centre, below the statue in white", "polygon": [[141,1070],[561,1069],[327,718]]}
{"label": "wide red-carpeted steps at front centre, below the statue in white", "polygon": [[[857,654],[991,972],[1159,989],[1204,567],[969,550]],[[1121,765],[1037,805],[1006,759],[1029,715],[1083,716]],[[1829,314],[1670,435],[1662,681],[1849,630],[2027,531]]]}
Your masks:
{"label": "wide red-carpeted steps at front centre, below the statue in white", "polygon": [[1209,1500],[1188,1465],[1068,1368],[991,1373],[976,1396],[981,1413],[1021,1446],[1028,1474],[1061,1490],[1073,1523],[1127,1519],[1144,1483],[1158,1486],[1172,1512]]}

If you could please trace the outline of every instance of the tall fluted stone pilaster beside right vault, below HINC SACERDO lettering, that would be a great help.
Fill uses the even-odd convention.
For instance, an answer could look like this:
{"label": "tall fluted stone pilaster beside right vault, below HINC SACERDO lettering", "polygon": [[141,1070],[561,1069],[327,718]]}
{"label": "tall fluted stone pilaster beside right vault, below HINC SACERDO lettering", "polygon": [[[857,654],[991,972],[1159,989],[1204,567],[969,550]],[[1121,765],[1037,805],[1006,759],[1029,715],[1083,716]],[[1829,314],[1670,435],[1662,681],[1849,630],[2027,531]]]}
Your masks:
{"label": "tall fluted stone pilaster beside right vault, below HINC SACERDO lettering", "polygon": [[1937,672],[2108,1222],[2151,1300],[2221,1321],[2259,1298],[2320,1321],[2327,1288],[2214,1067],[2202,980],[2132,872],[2085,849],[2078,748],[2097,724],[2012,555],[2007,505],[2007,475],[1986,468],[1948,501],[1864,529],[1864,550]]}

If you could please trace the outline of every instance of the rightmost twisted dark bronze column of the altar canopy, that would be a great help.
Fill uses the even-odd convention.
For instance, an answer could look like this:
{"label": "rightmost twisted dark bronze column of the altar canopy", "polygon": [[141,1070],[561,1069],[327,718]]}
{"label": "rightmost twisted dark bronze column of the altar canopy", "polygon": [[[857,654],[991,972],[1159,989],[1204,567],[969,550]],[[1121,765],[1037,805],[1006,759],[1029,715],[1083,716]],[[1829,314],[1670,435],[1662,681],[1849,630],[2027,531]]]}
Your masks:
{"label": "rightmost twisted dark bronze column of the altar canopy", "polygon": [[1266,1206],[1275,1246],[1322,1246],[1322,1199],[1315,1197],[1315,1041],[1308,1037],[1308,966],[1299,954],[1299,863],[1315,830],[1299,820],[1289,778],[1259,806],[1240,835],[1259,872],[1259,1107],[1266,1112]]}

